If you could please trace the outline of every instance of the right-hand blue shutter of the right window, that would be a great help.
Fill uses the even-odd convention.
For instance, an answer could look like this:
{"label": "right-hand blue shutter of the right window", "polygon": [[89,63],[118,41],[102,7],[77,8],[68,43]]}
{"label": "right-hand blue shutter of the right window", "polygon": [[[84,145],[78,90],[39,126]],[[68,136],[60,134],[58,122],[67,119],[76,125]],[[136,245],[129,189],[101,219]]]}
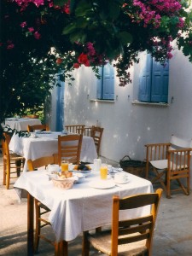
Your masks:
{"label": "right-hand blue shutter of the right window", "polygon": [[162,66],[153,60],[151,102],[167,102],[169,82],[169,63]]}

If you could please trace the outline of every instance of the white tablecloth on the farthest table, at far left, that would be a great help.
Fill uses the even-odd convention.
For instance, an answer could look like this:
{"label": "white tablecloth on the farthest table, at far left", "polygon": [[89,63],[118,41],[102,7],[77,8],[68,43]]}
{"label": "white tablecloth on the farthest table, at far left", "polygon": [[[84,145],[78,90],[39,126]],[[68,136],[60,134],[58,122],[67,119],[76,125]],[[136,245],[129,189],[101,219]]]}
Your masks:
{"label": "white tablecloth on the farthest table, at far left", "polygon": [[[5,124],[9,125],[11,129],[16,129],[17,131],[27,131],[27,125],[41,125],[40,119],[5,119]],[[3,126],[4,126],[3,125]]]}

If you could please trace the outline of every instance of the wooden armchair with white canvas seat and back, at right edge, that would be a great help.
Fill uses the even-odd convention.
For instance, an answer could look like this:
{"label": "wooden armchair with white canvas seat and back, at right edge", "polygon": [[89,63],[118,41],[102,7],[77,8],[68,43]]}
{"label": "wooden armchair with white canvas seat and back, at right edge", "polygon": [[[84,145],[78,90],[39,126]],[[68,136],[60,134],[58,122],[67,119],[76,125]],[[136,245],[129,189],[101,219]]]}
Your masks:
{"label": "wooden armchair with white canvas seat and back, at right edge", "polygon": [[[146,177],[149,168],[154,172],[152,183],[160,183],[166,191],[166,197],[171,198],[172,191],[183,190],[189,195],[191,140],[186,141],[172,135],[170,143],[147,144]],[[182,180],[181,180],[182,179]],[[186,181],[186,186],[183,184]],[[179,188],[171,189],[171,182],[176,180]]]}

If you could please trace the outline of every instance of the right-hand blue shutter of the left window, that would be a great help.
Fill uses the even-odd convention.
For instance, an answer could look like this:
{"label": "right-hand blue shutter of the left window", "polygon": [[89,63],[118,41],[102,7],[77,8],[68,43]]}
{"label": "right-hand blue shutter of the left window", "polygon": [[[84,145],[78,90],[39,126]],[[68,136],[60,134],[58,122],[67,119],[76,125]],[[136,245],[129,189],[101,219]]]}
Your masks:
{"label": "right-hand blue shutter of the left window", "polygon": [[103,67],[102,99],[114,99],[114,69],[110,64]]}

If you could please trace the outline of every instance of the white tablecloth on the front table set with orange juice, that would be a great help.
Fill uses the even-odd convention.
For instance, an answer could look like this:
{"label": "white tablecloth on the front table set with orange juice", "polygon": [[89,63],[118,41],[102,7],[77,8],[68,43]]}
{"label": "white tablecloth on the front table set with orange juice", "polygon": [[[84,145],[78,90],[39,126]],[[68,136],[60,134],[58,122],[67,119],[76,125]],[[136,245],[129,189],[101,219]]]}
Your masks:
{"label": "white tablecloth on the front table set with orange juice", "polygon": [[[141,177],[129,174],[129,182],[110,189],[90,188],[91,181],[99,182],[99,172],[92,171],[83,183],[76,183],[73,189],[62,190],[53,186],[45,170],[25,172],[15,183],[15,189],[26,189],[33,197],[49,207],[49,221],[57,241],[71,241],[82,231],[109,224],[112,215],[112,197],[125,197],[137,193],[153,192],[152,184]],[[20,193],[18,193],[20,195]],[[149,212],[149,207],[142,207],[125,212],[142,216]]]}

